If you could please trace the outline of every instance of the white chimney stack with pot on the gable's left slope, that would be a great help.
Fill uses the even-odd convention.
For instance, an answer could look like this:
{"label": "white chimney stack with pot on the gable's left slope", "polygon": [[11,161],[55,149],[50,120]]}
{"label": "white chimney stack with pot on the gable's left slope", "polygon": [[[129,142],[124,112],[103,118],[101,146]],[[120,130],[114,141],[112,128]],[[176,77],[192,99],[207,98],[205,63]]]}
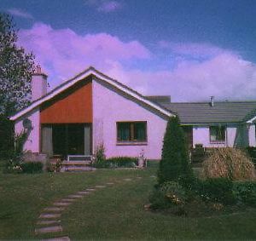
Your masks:
{"label": "white chimney stack with pot on the gable's left slope", "polygon": [[47,75],[42,72],[41,66],[37,66],[32,74],[32,101],[38,100],[47,93]]}

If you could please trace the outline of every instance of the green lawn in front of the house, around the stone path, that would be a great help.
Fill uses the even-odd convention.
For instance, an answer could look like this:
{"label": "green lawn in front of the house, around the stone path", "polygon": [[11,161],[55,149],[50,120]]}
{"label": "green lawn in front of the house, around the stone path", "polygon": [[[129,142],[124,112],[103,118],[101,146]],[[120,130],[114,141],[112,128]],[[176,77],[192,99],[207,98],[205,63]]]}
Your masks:
{"label": "green lawn in front of the house, around the stone path", "polygon": [[71,239],[96,240],[256,239],[254,209],[210,218],[173,217],[145,211],[143,205],[148,203],[155,172],[156,165],[146,170],[100,169],[39,175],[1,173],[0,239],[41,238],[34,235],[34,229],[38,215],[46,206],[68,194],[108,181],[116,184],[91,193],[63,212],[63,235]]}

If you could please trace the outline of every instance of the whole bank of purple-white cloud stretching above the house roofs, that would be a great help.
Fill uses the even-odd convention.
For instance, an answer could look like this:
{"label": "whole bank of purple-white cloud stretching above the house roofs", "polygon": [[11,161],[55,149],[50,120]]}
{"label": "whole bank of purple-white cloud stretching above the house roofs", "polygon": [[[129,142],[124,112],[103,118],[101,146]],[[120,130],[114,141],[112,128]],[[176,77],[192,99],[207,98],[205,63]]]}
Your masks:
{"label": "whole bank of purple-white cloud stretching above the house roofs", "polygon": [[[162,64],[164,60],[157,59],[137,40],[125,43],[108,33],[82,36],[43,23],[20,31],[20,45],[34,52],[49,74],[51,88],[87,66],[95,66],[144,95],[172,95],[173,101],[208,100],[211,95],[216,100],[256,99],[255,64],[227,49],[189,44],[172,47],[177,57],[174,67],[166,71],[157,71],[157,66],[156,71],[140,66],[128,70],[125,62],[139,59]],[[207,58],[191,60],[187,53]]]}

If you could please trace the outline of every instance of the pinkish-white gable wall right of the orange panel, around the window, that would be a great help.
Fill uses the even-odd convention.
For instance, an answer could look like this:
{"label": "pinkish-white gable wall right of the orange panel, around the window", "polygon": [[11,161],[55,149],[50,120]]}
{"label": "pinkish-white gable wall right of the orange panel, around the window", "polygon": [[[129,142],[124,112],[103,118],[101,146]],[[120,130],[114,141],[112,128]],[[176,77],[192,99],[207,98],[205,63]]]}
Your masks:
{"label": "pinkish-white gable wall right of the orange panel, around the window", "polygon": [[[137,157],[143,150],[146,158],[160,159],[166,120],[96,80],[92,84],[94,152],[96,147],[103,143],[108,158]],[[116,123],[119,121],[147,121],[148,144],[146,146],[117,145]]]}

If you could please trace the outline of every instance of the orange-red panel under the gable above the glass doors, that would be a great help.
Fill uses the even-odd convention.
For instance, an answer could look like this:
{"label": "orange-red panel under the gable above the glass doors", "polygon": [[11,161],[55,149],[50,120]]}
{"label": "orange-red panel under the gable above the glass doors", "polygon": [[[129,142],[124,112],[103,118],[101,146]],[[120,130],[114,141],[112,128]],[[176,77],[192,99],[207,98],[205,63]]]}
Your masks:
{"label": "orange-red panel under the gable above the glass doors", "polygon": [[92,123],[92,84],[82,81],[41,106],[41,123]]}

